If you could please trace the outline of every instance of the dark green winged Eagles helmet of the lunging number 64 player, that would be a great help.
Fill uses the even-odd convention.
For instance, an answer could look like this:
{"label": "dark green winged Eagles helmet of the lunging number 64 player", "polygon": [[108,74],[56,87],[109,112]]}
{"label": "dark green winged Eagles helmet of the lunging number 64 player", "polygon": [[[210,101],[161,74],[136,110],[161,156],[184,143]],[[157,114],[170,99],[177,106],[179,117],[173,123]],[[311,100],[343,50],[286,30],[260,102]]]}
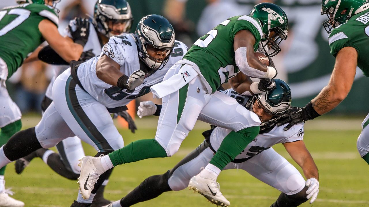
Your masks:
{"label": "dark green winged Eagles helmet of the lunging number 64 player", "polygon": [[[151,69],[161,70],[169,60],[175,41],[172,25],[161,15],[147,15],[138,22],[136,29],[136,43],[139,49],[139,58]],[[148,45],[159,50],[165,50],[164,60],[151,57],[146,48]]]}

